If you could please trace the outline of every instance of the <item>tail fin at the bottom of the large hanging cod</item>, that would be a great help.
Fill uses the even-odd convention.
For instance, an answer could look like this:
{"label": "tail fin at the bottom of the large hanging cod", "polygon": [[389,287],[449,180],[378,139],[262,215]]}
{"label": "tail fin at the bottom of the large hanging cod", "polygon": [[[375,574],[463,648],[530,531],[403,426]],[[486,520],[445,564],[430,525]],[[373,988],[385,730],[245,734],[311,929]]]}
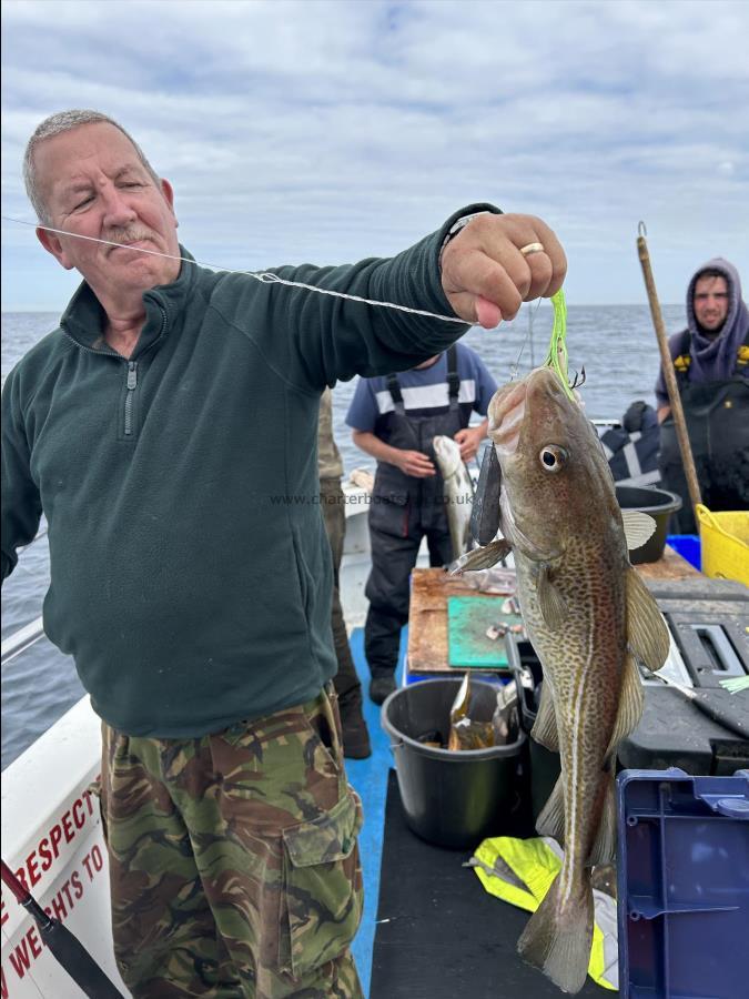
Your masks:
{"label": "tail fin at the bottom of the large hanging cod", "polygon": [[[564,868],[563,868],[564,869]],[[517,950],[563,992],[579,992],[585,985],[593,945],[593,889],[584,871],[577,897],[563,908],[559,901],[561,875],[526,924]]]}

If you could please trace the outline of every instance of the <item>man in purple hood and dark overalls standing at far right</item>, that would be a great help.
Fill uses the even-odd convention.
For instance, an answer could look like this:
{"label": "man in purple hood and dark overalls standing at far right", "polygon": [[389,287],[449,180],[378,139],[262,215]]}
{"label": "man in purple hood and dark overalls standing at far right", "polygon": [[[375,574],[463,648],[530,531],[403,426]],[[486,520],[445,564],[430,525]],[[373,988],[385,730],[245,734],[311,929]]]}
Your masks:
{"label": "man in purple hood and dark overalls standing at far right", "polygon": [[[708,261],[689,282],[687,322],[668,343],[702,502],[712,511],[749,509],[749,310],[727,260]],[[656,398],[660,477],[685,501],[676,529],[696,534],[662,369]]]}

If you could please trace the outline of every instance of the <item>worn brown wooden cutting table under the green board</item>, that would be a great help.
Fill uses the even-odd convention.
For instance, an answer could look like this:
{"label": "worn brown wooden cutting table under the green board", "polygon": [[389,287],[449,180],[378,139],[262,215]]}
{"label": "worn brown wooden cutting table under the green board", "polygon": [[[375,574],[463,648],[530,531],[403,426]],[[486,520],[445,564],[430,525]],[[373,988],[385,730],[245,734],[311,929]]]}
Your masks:
{"label": "worn brown wooden cutting table under the green board", "polygon": [[[635,568],[648,582],[672,582],[701,575],[668,545],[658,562],[647,562]],[[455,669],[447,660],[447,598],[451,596],[474,596],[498,603],[505,599],[505,596],[472,589],[458,576],[447,576],[442,568],[414,569],[408,612],[406,668],[409,674],[465,672],[463,668]],[[486,674],[487,669],[482,667],[470,672]]]}

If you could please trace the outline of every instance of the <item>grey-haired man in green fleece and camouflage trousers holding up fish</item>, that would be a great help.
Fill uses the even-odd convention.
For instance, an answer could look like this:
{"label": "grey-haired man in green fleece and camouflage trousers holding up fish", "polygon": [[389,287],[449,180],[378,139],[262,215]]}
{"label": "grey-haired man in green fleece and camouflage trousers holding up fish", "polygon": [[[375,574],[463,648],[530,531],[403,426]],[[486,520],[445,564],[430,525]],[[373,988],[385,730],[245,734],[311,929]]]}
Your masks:
{"label": "grey-haired man in green fleece and camouflage trousers holding up fish", "polygon": [[26,176],[84,280],[4,385],[2,575],[43,511],[47,634],[103,719],[122,976],[135,997],[360,997],[320,396],[554,293],[564,252],[476,205],[393,259],[276,271],[334,297],[198,266],[171,185],[98,112],[42,122]]}

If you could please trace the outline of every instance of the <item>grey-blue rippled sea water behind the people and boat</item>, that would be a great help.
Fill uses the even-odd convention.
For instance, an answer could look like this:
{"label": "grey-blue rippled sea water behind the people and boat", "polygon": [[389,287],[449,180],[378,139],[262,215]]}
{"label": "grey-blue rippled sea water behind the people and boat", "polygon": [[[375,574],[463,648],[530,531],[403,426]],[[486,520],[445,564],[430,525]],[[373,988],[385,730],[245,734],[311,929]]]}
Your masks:
{"label": "grey-blue rippled sea water behind the people and boat", "polygon": [[[669,332],[684,327],[682,305],[667,305],[662,312]],[[57,321],[52,313],[2,314],[3,380],[26,351],[54,330]],[[544,362],[550,331],[550,307],[527,305],[513,323],[492,331],[473,329],[463,342],[480,354],[502,384]],[[591,418],[621,420],[634,400],[655,402],[659,354],[647,305],[570,305],[567,346],[570,373],[585,366],[581,394]],[[346,475],[356,467],[374,471],[373,460],[354,447],[345,424],[356,381],[340,382],[333,392],[333,425]],[[48,585],[49,549],[41,538],[21,554],[2,588],[3,638],[39,617]],[[3,666],[2,768],[82,695],[71,658],[47,638]]]}

